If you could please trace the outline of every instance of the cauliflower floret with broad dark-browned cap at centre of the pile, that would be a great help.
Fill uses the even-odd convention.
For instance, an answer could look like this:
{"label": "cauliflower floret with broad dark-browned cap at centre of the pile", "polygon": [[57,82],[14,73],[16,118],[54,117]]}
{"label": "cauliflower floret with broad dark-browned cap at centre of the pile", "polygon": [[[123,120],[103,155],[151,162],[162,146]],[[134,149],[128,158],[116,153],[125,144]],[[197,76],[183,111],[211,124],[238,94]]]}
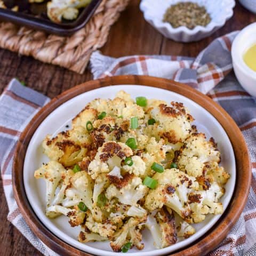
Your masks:
{"label": "cauliflower floret with broad dark-browned cap at centre of the pile", "polygon": [[131,148],[122,142],[105,142],[89,164],[88,172],[92,179],[96,179],[101,173],[108,173],[115,166],[120,167],[121,161],[132,154]]}

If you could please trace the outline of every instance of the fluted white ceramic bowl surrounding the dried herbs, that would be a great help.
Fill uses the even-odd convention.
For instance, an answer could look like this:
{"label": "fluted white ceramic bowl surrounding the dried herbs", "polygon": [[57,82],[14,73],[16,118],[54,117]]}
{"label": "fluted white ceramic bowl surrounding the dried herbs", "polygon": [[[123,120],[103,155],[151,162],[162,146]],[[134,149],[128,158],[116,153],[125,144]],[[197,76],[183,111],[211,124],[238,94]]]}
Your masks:
{"label": "fluted white ceramic bowl surrounding the dried herbs", "polygon": [[[178,2],[194,2],[204,5],[211,15],[211,22],[206,27],[196,26],[194,29],[188,29],[185,26],[173,28],[170,23],[163,22],[166,9]],[[191,42],[207,37],[222,27],[232,17],[234,6],[234,0],[142,0],[140,10],[144,18],[165,37],[174,41]]]}

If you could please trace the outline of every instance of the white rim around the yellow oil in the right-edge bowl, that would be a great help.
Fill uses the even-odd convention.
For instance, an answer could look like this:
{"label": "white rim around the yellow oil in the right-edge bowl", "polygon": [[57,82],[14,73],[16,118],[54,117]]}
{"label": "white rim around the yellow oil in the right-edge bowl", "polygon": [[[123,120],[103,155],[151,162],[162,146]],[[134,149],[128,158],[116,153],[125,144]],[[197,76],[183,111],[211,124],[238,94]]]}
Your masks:
{"label": "white rim around the yellow oil in the right-edge bowl", "polygon": [[[242,51],[237,51],[238,49],[238,44],[241,38],[248,33],[250,30],[254,31],[256,33],[256,22],[251,23],[250,25],[246,26],[243,28],[238,35],[235,37],[233,44],[231,45],[231,57],[233,63],[237,65],[238,68],[241,69],[241,71],[246,75],[250,76],[251,78],[256,78],[256,71],[253,71],[251,68],[249,68],[246,63],[244,62],[243,56],[241,54]],[[256,39],[255,39],[255,44],[256,44]],[[251,45],[252,46],[252,45]],[[244,49],[246,50],[246,49]],[[242,61],[241,61],[242,60]]]}

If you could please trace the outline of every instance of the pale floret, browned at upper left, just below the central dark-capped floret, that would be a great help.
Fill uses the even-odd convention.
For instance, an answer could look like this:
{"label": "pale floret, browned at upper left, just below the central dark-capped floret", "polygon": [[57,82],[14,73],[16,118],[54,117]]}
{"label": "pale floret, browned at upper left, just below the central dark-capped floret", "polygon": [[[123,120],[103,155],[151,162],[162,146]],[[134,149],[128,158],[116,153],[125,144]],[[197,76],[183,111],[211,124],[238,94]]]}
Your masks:
{"label": "pale floret, browned at upper left, just below the central dark-capped floret", "polygon": [[113,182],[114,184],[111,184],[106,190],[106,197],[108,199],[116,197],[122,204],[135,205],[148,192],[148,188],[142,184],[142,180],[132,174],[126,175],[120,180],[113,180]]}

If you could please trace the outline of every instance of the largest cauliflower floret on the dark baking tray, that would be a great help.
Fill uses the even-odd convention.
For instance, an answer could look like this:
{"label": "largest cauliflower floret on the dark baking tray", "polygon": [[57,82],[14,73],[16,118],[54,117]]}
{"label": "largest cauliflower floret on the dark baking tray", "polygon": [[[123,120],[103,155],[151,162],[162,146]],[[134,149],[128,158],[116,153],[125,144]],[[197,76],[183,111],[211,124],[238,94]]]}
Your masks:
{"label": "largest cauliflower floret on the dark baking tray", "polygon": [[62,18],[74,20],[78,16],[78,9],[90,2],[91,0],[52,0],[47,3],[47,15],[56,23],[60,23]]}

